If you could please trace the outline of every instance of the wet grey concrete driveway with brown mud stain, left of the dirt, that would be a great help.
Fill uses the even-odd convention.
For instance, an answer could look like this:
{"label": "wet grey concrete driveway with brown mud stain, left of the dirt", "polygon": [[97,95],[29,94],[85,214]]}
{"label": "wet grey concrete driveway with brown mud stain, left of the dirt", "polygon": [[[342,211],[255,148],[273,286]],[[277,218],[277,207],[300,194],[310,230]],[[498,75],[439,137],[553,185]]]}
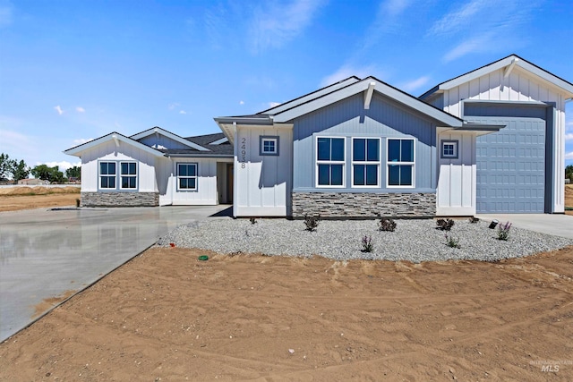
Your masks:
{"label": "wet grey concrete driveway with brown mud stain, left of the dirt", "polygon": [[177,225],[229,206],[0,213],[0,342],[132,259]]}

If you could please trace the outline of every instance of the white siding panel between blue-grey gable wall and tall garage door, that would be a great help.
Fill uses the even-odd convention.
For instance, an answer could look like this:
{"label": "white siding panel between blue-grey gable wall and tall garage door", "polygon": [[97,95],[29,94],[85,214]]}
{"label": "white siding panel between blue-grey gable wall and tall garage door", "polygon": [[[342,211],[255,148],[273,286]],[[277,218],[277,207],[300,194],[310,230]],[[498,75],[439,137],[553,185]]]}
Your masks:
{"label": "white siding panel between blue-grey gable wall and tall garage door", "polygon": [[[439,129],[440,130],[440,129]],[[476,166],[475,134],[438,132],[438,150],[442,140],[458,141],[458,158],[442,158],[438,153],[438,190],[436,215],[475,215]]]}

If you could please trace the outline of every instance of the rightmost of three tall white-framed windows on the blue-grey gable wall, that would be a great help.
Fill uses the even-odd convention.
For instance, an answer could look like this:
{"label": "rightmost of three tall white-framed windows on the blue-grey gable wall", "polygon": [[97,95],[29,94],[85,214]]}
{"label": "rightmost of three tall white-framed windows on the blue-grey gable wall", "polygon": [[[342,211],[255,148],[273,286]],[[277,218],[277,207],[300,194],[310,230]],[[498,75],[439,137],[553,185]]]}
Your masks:
{"label": "rightmost of three tall white-framed windows on the blue-grey gable wall", "polygon": [[414,139],[388,140],[388,187],[414,187]]}

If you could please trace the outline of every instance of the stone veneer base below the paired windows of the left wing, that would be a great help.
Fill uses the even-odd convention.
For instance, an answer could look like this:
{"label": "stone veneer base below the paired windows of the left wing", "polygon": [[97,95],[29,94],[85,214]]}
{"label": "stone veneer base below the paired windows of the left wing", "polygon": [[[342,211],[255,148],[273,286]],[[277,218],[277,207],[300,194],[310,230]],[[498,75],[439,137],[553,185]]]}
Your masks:
{"label": "stone veneer base below the paired windows of the left wing", "polygon": [[81,192],[81,207],[155,207],[159,192]]}

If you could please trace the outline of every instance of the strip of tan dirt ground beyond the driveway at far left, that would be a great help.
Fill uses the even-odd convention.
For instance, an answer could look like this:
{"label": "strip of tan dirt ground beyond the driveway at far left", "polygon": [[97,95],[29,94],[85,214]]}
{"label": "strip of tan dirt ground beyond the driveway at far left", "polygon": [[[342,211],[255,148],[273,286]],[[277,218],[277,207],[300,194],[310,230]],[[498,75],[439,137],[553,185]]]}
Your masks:
{"label": "strip of tan dirt ground beyond the driveway at far left", "polygon": [[0,188],[0,212],[32,208],[75,206],[79,187],[11,187]]}

